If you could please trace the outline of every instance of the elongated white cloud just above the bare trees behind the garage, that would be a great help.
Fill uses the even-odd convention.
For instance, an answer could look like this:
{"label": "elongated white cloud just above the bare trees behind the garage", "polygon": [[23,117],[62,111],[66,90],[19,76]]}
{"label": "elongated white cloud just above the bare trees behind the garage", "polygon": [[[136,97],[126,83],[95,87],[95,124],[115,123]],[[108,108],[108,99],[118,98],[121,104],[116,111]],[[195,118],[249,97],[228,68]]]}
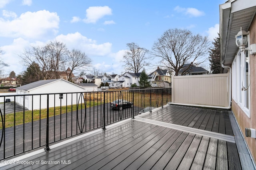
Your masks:
{"label": "elongated white cloud just above the bare trees behind the garage", "polygon": [[59,35],[57,41],[66,43],[69,49],[82,49],[89,57],[92,55],[104,56],[111,52],[112,43],[97,44],[95,40],[82,36],[79,32],[74,34]]}

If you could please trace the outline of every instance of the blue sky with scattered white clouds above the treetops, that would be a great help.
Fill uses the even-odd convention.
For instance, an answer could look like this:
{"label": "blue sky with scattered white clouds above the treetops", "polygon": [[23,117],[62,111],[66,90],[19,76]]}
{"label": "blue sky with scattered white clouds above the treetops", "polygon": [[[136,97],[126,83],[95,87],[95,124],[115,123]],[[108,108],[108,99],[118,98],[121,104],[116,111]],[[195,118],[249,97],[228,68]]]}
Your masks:
{"label": "blue sky with scattered white clouds above the treetops", "polygon": [[[168,29],[188,29],[213,40],[219,32],[219,5],[225,0],[0,0],[0,48],[4,74],[26,70],[24,49],[49,41],[80,49],[100,72],[124,73],[127,43],[151,50]],[[154,59],[151,68],[158,66]],[[206,66],[207,67],[207,66]],[[88,68],[86,73],[90,73]]]}

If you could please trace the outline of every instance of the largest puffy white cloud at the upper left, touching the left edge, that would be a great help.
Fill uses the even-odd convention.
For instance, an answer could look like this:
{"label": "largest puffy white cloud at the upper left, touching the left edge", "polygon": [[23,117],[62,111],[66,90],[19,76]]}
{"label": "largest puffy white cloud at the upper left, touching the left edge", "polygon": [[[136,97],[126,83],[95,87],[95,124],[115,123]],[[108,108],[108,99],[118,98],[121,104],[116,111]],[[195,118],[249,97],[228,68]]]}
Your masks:
{"label": "largest puffy white cloud at the upper left, touching the left edge", "polygon": [[49,33],[55,35],[58,32],[59,22],[57,13],[46,10],[26,12],[11,21],[0,18],[0,36],[44,38]]}

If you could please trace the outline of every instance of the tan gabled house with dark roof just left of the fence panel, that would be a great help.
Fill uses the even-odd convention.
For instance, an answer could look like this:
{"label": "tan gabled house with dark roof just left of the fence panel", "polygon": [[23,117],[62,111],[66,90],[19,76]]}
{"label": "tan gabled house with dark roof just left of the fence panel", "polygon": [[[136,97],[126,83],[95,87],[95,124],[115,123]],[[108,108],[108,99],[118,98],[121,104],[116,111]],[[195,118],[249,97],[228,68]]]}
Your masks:
{"label": "tan gabled house with dark roof just left of the fence panel", "polygon": [[148,80],[152,87],[169,87],[171,83],[171,75],[166,69],[160,69],[157,67],[155,71],[148,75]]}

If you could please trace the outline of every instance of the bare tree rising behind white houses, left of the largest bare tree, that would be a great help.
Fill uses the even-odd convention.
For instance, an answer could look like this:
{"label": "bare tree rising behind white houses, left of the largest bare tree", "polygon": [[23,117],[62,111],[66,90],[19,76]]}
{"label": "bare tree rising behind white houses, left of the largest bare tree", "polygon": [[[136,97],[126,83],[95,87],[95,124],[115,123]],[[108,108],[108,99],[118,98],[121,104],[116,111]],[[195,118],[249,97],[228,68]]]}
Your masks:
{"label": "bare tree rising behind white houses, left of the largest bare tree", "polygon": [[124,68],[128,71],[138,73],[144,66],[149,66],[150,56],[147,55],[148,50],[139,47],[134,42],[127,44],[128,51],[124,55]]}

